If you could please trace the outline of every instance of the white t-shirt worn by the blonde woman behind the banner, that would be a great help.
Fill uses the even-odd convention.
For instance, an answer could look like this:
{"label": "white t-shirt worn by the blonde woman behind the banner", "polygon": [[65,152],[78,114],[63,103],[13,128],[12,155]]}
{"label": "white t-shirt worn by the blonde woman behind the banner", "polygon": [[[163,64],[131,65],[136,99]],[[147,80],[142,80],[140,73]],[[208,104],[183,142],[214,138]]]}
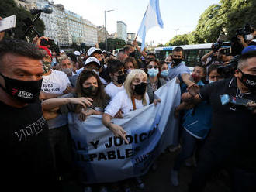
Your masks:
{"label": "white t-shirt worn by the blonde woman behind the banner", "polygon": [[[149,105],[149,97],[146,93],[146,100],[147,105]],[[135,105],[136,108],[143,108],[144,105],[142,104],[142,100],[135,99]],[[110,101],[109,105],[105,108],[105,113],[111,115],[114,117],[116,113],[121,110],[123,112],[123,115],[126,115],[126,113],[133,111],[133,102],[128,97],[128,94],[126,94],[126,91],[119,91],[118,94],[112,100]]]}

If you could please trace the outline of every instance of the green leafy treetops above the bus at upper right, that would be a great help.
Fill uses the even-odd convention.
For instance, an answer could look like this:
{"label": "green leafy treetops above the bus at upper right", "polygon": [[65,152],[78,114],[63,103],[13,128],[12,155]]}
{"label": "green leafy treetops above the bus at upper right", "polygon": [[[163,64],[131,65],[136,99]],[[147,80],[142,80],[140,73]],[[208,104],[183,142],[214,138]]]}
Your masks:
{"label": "green leafy treetops above the bus at upper right", "polygon": [[213,43],[220,33],[231,39],[246,23],[256,26],[255,10],[255,0],[220,0],[200,15],[196,29],[189,36],[174,37],[166,45],[174,45],[175,39],[176,45]]}

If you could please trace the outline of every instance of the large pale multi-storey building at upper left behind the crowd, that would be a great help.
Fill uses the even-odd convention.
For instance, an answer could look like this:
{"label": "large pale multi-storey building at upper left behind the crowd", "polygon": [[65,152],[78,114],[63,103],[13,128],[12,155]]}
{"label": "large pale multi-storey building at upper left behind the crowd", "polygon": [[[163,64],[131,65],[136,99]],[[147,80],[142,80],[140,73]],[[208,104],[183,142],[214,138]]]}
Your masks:
{"label": "large pale multi-storey building at upper left behind the crowd", "polygon": [[[44,5],[53,8],[51,14],[41,13],[40,19],[45,25],[44,36],[54,39],[59,46],[71,46],[72,43],[85,43],[95,46],[98,43],[98,26],[81,15],[64,9],[64,5],[55,5],[47,0],[15,0],[16,4],[29,9],[42,9]],[[105,40],[105,37],[104,37]]]}

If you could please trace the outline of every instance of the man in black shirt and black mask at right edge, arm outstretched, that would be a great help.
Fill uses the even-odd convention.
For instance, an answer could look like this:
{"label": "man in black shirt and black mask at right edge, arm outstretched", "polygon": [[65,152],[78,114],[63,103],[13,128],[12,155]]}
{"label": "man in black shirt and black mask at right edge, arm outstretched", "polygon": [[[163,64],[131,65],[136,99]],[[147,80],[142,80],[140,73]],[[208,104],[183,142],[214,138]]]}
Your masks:
{"label": "man in black shirt and black mask at right edge, arm outstretched", "polygon": [[256,101],[255,51],[241,56],[234,76],[207,84],[200,91],[188,88],[193,102],[206,100],[213,106],[213,126],[189,191],[203,191],[207,179],[221,168],[230,170],[232,191],[256,191],[256,115],[246,107],[222,105],[220,101],[223,94]]}

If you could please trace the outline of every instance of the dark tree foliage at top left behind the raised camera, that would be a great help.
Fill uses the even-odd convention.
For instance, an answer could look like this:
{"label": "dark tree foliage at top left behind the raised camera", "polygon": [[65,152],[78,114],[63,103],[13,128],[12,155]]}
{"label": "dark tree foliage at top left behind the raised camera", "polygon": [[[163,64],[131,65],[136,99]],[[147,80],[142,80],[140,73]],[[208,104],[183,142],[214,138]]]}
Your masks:
{"label": "dark tree foliage at top left behind the raised camera", "polygon": [[[15,38],[20,39],[25,30],[26,26],[22,22],[23,19],[30,18],[33,19],[34,15],[31,15],[30,12],[26,11],[26,9],[23,9],[22,7],[18,7],[14,0],[1,0],[0,1],[0,16],[2,18],[16,15],[16,28],[13,29],[15,33]],[[40,33],[41,36],[43,36],[43,31],[45,29],[43,20],[38,19],[35,23],[36,30]],[[36,36],[35,33],[29,34],[29,39],[32,40],[33,37]]]}

